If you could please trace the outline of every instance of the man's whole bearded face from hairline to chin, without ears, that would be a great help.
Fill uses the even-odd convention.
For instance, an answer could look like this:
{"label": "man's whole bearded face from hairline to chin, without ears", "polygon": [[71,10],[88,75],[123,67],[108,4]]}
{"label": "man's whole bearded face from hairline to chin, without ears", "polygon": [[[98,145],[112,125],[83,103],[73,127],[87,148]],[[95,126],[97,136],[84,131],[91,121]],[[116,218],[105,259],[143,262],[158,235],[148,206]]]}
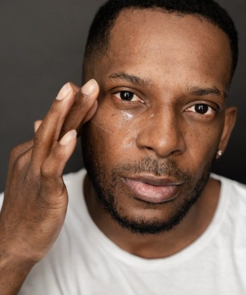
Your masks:
{"label": "man's whole bearded face from hairline to chin, without ears", "polygon": [[171,229],[201,195],[224,124],[231,52],[204,19],[127,9],[88,74],[99,107],[82,133],[88,175],[133,232]]}

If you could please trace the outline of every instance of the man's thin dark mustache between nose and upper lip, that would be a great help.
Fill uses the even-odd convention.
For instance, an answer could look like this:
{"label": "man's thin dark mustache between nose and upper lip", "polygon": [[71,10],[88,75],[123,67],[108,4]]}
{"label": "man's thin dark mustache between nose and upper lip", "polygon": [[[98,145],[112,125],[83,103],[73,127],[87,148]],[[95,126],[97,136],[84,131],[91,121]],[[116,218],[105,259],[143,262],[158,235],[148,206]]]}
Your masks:
{"label": "man's thin dark mustache between nose and upper lip", "polygon": [[112,170],[113,176],[141,173],[151,173],[158,177],[173,177],[182,182],[190,182],[192,180],[191,173],[188,170],[181,170],[175,160],[167,159],[163,163],[151,156],[143,157],[139,161],[117,165],[117,167]]}

